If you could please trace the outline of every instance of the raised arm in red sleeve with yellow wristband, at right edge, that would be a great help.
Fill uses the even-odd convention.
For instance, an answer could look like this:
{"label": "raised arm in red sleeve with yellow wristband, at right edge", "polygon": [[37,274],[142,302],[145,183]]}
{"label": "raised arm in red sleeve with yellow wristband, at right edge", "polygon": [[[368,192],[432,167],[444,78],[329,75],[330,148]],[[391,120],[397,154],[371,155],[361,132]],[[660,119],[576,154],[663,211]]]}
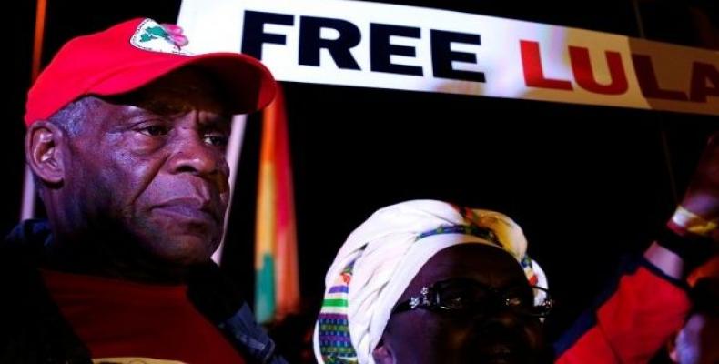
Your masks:
{"label": "raised arm in red sleeve with yellow wristband, at right edge", "polygon": [[710,138],[667,228],[625,265],[603,298],[555,345],[559,363],[643,363],[684,325],[684,278],[716,250],[719,137]]}

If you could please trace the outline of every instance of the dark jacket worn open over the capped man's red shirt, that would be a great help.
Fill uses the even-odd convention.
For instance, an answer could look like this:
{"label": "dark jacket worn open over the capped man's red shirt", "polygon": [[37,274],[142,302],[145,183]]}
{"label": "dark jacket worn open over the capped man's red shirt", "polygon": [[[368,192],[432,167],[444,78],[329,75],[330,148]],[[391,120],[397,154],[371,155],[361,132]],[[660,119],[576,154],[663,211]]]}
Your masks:
{"label": "dark jacket worn open over the capped man's red shirt", "polygon": [[[49,237],[46,221],[26,220],[0,246],[0,363],[92,362],[38,271]],[[217,265],[194,269],[187,285],[197,309],[248,362],[286,363]]]}

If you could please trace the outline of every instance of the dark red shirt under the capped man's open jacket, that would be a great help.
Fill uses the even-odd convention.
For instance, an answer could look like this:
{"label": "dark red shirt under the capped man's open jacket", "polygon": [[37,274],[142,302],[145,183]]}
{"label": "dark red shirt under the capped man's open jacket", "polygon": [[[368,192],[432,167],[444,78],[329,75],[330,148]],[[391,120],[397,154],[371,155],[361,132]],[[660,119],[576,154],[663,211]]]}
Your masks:
{"label": "dark red shirt under the capped man's open jacket", "polygon": [[161,286],[43,270],[51,296],[92,357],[184,363],[244,363],[187,298],[187,286]]}

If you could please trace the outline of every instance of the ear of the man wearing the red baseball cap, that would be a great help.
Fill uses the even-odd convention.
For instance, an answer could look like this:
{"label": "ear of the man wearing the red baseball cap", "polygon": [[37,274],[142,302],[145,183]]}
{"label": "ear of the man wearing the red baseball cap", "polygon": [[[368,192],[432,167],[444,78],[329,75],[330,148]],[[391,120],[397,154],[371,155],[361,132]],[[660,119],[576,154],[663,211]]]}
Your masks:
{"label": "ear of the man wearing the red baseball cap", "polygon": [[63,143],[65,133],[48,121],[35,121],[28,126],[25,136],[25,158],[35,175],[49,185],[58,185],[65,179]]}

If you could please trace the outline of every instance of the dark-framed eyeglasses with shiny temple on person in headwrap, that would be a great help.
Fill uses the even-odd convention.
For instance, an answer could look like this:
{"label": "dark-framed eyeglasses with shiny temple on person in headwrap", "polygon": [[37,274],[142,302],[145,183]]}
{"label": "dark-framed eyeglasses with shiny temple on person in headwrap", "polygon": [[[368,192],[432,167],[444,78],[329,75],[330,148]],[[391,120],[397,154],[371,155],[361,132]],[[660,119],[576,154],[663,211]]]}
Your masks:
{"label": "dark-framed eyeglasses with shiny temple on person in headwrap", "polygon": [[[535,300],[535,297],[538,299]],[[430,311],[486,315],[492,309],[507,308],[522,316],[546,318],[554,301],[541,287],[491,288],[469,278],[452,278],[422,287],[419,296],[398,303],[391,314],[425,308]]]}

